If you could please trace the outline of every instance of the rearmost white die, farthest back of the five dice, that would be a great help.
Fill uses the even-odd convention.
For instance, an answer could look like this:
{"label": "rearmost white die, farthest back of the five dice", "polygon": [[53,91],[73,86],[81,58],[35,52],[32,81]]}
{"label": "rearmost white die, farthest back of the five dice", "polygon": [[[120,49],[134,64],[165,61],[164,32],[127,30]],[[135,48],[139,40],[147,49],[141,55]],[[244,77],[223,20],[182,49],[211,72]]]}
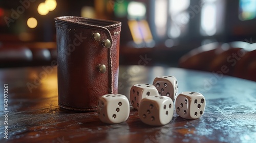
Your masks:
{"label": "rearmost white die, farthest back of the five dice", "polygon": [[160,76],[155,78],[153,85],[157,88],[160,96],[170,97],[173,101],[177,97],[178,83],[173,76]]}

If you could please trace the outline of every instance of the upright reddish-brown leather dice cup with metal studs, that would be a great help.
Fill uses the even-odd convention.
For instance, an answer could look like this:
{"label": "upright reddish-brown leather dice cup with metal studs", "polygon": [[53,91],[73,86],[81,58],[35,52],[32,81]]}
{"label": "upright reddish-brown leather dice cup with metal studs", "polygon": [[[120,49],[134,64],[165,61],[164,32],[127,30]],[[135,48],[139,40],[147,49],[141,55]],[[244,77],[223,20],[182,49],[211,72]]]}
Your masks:
{"label": "upright reddish-brown leather dice cup with metal studs", "polygon": [[55,23],[58,104],[96,111],[102,95],[117,93],[121,22],[62,16]]}

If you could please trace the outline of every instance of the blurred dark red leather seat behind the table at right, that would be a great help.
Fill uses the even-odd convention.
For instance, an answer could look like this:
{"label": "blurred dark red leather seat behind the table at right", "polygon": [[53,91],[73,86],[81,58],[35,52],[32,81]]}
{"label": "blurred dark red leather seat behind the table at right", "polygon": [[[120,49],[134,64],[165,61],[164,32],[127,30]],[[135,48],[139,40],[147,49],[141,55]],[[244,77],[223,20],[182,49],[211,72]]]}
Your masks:
{"label": "blurred dark red leather seat behind the table at right", "polygon": [[179,66],[256,81],[255,54],[255,43],[209,43],[183,55]]}

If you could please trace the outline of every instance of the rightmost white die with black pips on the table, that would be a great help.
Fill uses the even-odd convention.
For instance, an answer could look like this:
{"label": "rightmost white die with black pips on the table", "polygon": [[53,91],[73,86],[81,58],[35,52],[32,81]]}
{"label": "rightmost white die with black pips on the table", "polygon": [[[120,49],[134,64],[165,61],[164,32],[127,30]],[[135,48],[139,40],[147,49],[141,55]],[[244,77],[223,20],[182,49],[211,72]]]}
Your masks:
{"label": "rightmost white die with black pips on the table", "polygon": [[175,101],[175,109],[179,116],[187,119],[196,119],[204,114],[205,98],[198,92],[182,92]]}

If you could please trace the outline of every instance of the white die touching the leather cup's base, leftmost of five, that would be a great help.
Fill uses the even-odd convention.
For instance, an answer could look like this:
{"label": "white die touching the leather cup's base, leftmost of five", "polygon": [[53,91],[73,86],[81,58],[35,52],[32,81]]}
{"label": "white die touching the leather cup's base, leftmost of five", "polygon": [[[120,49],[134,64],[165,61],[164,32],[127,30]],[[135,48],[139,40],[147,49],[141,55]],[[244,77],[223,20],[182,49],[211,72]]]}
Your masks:
{"label": "white die touching the leather cup's base, leftmost of five", "polygon": [[127,120],[130,114],[129,100],[122,94],[105,94],[98,100],[100,121],[117,124]]}

